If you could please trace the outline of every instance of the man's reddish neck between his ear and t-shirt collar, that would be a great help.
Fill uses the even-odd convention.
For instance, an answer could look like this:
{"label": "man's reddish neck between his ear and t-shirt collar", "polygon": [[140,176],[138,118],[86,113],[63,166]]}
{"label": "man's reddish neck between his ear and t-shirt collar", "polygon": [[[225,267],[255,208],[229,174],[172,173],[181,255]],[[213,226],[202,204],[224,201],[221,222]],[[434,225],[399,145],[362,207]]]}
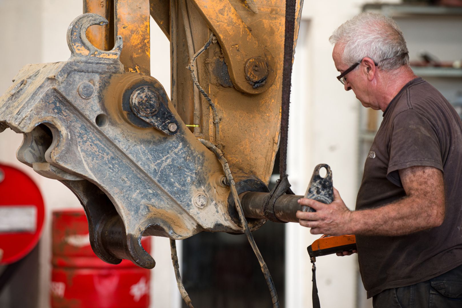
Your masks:
{"label": "man's reddish neck between his ear and t-shirt collar", "polygon": [[380,74],[380,84],[377,93],[379,107],[382,111],[387,109],[391,100],[401,91],[401,89],[411,80],[416,78],[409,66],[403,66],[394,71],[382,71]]}

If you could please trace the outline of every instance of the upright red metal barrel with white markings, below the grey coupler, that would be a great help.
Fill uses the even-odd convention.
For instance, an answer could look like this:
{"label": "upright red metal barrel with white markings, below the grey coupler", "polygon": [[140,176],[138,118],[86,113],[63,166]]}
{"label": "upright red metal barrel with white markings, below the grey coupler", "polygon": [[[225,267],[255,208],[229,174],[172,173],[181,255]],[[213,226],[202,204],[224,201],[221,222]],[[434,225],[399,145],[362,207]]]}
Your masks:
{"label": "upright red metal barrel with white markings, below the grey coupler", "polygon": [[[129,260],[108,264],[90,246],[84,211],[53,212],[53,308],[147,308],[149,278],[147,269]],[[150,252],[150,239],[141,244]]]}

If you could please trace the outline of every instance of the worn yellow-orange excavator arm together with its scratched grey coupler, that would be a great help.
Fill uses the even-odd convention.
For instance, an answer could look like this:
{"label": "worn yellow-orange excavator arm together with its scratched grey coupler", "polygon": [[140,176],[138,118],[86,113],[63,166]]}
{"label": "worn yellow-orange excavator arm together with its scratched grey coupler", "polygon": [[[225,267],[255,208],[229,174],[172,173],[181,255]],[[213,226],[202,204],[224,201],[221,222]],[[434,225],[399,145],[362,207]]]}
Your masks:
{"label": "worn yellow-orange excavator arm together with its scratched grey coupler", "polygon": [[[170,40],[170,98],[150,75],[150,15]],[[0,97],[0,131],[23,133],[18,160],[79,198],[98,257],[152,268],[142,235],[243,233],[231,189],[269,192],[284,24],[279,0],[84,0],[69,60],[18,72]],[[267,221],[244,212],[250,230]]]}

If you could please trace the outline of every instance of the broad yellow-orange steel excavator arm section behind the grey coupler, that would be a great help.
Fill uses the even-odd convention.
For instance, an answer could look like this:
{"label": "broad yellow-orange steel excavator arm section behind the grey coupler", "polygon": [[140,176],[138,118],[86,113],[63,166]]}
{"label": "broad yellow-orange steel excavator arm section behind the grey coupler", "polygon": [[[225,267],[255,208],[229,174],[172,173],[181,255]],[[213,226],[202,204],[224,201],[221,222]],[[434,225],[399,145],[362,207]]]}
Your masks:
{"label": "broad yellow-orange steel excavator arm section behind the grey coupler", "polygon": [[[185,18],[179,1],[170,2],[171,99],[182,120],[196,124],[193,123],[195,85],[185,69],[189,64]],[[295,38],[302,2],[297,4]],[[285,1],[258,1],[257,14],[242,0],[186,0],[186,6],[194,51],[204,46],[211,33],[218,40],[197,58],[195,68],[201,87],[218,110],[219,143],[231,171],[268,183],[279,148]],[[230,19],[231,23],[227,23]],[[269,71],[274,72],[274,82],[271,85],[268,80],[262,88],[252,89],[245,69],[246,63],[261,63],[258,56],[264,58],[264,54],[257,50],[267,50],[272,55],[274,60],[267,63]],[[247,77],[253,79],[253,74]],[[260,94],[240,91],[243,86],[239,90],[236,80],[251,89],[248,93]],[[198,137],[220,145],[215,139],[213,112],[202,96],[200,107]]]}

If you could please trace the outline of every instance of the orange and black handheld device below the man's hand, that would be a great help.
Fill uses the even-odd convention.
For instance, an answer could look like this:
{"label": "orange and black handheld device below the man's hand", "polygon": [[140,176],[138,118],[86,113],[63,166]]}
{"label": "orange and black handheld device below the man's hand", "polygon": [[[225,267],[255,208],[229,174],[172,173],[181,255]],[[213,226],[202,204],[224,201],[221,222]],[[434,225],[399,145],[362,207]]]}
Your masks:
{"label": "orange and black handheld device below the man's hand", "polygon": [[324,256],[327,254],[336,254],[343,251],[352,251],[356,249],[356,236],[327,236],[323,235],[314,241],[308,248],[308,254],[311,258]]}

